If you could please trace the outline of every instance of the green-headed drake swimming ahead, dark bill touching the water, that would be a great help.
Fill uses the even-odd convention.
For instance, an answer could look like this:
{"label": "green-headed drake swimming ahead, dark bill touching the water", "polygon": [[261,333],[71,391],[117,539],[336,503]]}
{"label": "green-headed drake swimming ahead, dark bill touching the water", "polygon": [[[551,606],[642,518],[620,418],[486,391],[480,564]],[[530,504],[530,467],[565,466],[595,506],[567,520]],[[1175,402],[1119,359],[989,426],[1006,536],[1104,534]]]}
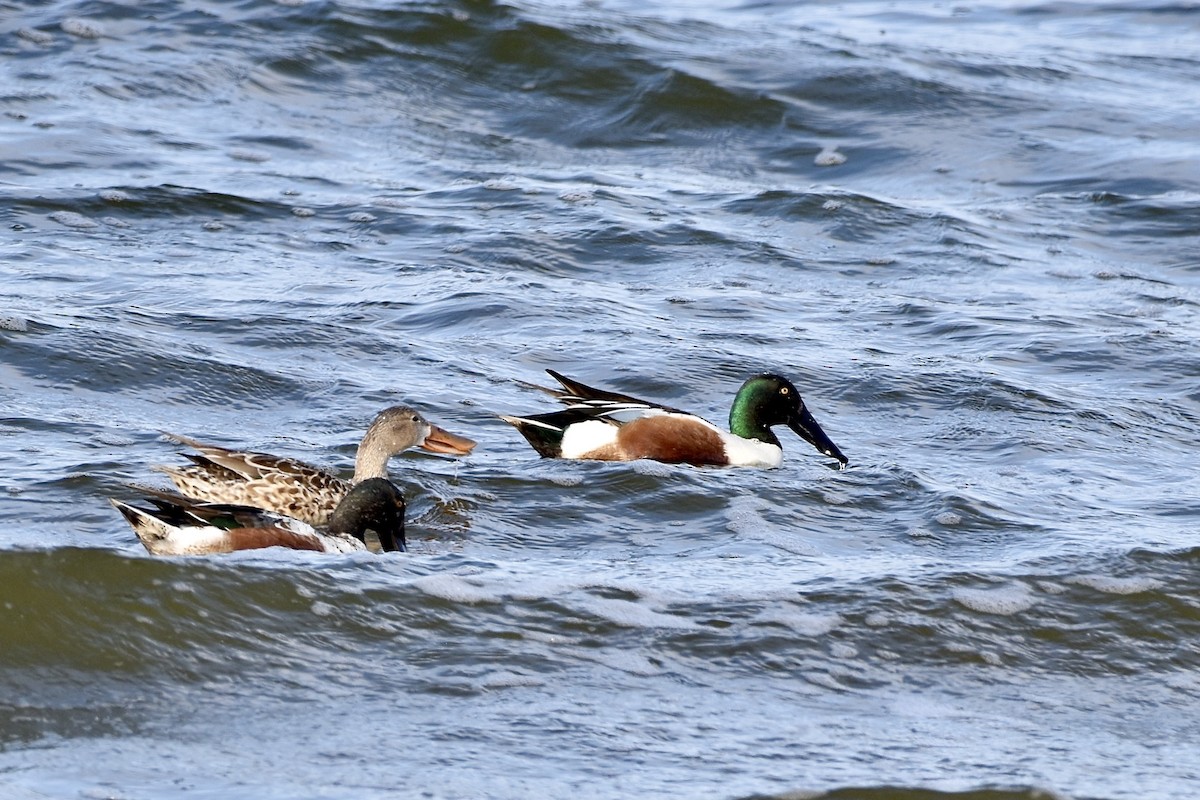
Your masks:
{"label": "green-headed drake swimming ahead, dark bill touching the water", "polygon": [[586,386],[547,369],[563,390],[546,390],[566,404],[560,411],[503,416],[545,458],[634,461],[715,467],[779,467],[784,450],[772,433],[786,425],[844,468],[848,462],[804,407],[786,378],[755,375],[730,409],[730,432],[667,405]]}

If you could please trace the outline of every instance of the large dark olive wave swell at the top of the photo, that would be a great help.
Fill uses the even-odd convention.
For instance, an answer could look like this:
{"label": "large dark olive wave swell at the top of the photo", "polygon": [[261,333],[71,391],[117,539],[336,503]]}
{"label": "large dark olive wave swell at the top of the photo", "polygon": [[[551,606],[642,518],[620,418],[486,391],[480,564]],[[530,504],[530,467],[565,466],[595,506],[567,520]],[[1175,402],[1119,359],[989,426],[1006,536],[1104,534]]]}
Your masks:
{"label": "large dark olive wave swell at the top of the photo", "polygon": [[[354,62],[388,58],[424,72],[428,95],[469,103],[487,96],[490,115],[503,112],[512,133],[572,146],[638,146],[665,140],[728,138],[732,128],[775,126],[781,107],[754,90],[713,82],[647,61],[605,28],[554,28],[520,18],[499,6],[397,14],[371,12],[362,19],[310,20],[325,41],[325,58]],[[349,28],[347,28],[349,26]],[[361,35],[347,35],[361,26]],[[346,52],[335,42],[360,42]],[[380,49],[379,44],[386,42]],[[430,66],[440,64],[438,72]],[[269,68],[314,83],[337,80],[316,71],[313,55],[277,60]],[[392,66],[395,70],[395,66]],[[412,83],[410,77],[397,77]],[[503,103],[497,104],[497,100]],[[570,120],[564,125],[564,119]]]}

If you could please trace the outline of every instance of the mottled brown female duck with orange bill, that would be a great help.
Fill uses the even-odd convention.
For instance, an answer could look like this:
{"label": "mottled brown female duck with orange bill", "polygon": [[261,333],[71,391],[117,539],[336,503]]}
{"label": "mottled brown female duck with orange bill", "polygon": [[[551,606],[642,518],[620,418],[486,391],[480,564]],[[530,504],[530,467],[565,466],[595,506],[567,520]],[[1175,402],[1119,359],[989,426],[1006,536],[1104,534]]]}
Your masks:
{"label": "mottled brown female duck with orange bill", "polygon": [[475,443],[431,425],[407,405],[380,411],[359,444],[354,479],[294,458],[228,450],[168,433],[199,455],[187,455],[186,467],[156,467],[180,492],[202,503],[223,503],[265,509],[323,525],[350,487],[372,477],[388,477],[388,459],[409,447],[466,456]]}

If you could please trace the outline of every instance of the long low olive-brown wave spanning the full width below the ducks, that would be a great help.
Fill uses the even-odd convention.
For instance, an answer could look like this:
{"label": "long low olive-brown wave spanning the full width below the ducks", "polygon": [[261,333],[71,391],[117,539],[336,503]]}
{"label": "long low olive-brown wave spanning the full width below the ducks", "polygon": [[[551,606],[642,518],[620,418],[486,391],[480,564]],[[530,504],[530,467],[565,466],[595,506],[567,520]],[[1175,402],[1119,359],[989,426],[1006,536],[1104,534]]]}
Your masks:
{"label": "long low olive-brown wave spanning the full width below the ducks", "polygon": [[[323,680],[354,685],[364,680],[354,664],[373,657],[355,654],[386,646],[403,649],[412,670],[433,668],[427,678],[437,682],[454,664],[479,663],[480,646],[492,650],[492,663],[521,668],[530,655],[536,662],[538,648],[522,652],[521,643],[545,630],[584,648],[652,646],[666,662],[698,657],[734,672],[767,661],[776,673],[824,669],[833,648],[835,663],[875,684],[890,680],[878,669],[898,652],[910,668],[1170,672],[1190,663],[1176,642],[1200,628],[1200,612],[1188,600],[1198,576],[1171,555],[1007,579],[882,579],[858,591],[799,582],[790,601],[727,597],[715,606],[706,591],[672,599],[599,577],[590,587],[578,576],[539,578],[518,590],[487,570],[410,578],[408,587],[420,590],[414,595],[396,583],[341,587],[344,570],[359,569],[354,561],[329,572],[313,571],[311,559],[300,570],[289,560],[259,558],[251,566],[254,560],[128,559],[104,551],[6,553],[5,668],[157,682],[223,681],[256,662],[288,680],[302,664],[324,663]],[[407,564],[378,558],[362,566],[383,577],[408,571]],[[472,630],[492,634],[452,644],[456,631]],[[352,668],[340,678],[342,661]]]}

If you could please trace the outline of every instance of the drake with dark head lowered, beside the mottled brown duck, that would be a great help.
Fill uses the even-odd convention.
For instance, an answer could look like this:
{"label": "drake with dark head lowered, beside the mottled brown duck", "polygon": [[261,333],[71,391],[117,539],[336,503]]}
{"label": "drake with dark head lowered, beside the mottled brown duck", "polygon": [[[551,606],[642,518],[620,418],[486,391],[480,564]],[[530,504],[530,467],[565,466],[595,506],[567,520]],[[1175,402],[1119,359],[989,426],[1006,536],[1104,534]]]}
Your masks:
{"label": "drake with dark head lowered, beside the mottled brown duck", "polygon": [[319,553],[366,549],[373,530],[384,551],[407,549],[404,495],[391,481],[372,477],[346,493],[325,531],[286,515],[227,503],[198,503],[170,493],[149,498],[154,509],[109,500],[151,555],[204,555],[262,547]]}

